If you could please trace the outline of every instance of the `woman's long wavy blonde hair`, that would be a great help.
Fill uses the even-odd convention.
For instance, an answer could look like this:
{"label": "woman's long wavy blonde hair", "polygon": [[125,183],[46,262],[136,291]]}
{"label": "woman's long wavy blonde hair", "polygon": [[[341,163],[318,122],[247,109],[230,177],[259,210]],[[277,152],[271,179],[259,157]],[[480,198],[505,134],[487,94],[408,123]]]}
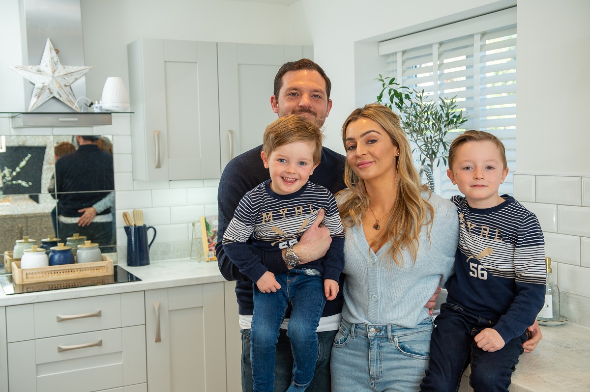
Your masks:
{"label": "woman's long wavy blonde hair", "polygon": [[[394,207],[387,222],[382,225],[384,230],[381,230],[369,245],[381,248],[386,243],[390,243],[388,254],[398,265],[404,263],[402,249],[408,249],[415,261],[422,226],[430,225],[434,216],[434,207],[421,196],[421,192],[428,190],[428,186],[421,185],[418,172],[412,162],[412,150],[399,124],[399,117],[388,107],[381,104],[368,104],[355,109],[342,126],[342,140],[346,140],[346,129],[349,124],[361,117],[369,118],[382,126],[399,149],[399,157],[396,159],[397,197]],[[339,207],[340,218],[345,226],[360,225],[362,216],[369,210],[369,196],[365,181],[353,172],[348,160],[346,160],[345,183],[348,190],[343,190],[339,195],[343,198]],[[428,235],[430,237],[430,232]]]}

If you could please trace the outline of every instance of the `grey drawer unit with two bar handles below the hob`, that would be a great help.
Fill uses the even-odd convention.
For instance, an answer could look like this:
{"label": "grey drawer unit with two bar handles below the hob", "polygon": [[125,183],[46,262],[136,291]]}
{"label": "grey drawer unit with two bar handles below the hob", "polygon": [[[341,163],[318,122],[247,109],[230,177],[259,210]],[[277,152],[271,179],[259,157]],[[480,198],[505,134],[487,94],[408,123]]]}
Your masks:
{"label": "grey drawer unit with two bar handles below the hob", "polygon": [[145,391],[143,303],[132,292],[6,307],[9,390]]}

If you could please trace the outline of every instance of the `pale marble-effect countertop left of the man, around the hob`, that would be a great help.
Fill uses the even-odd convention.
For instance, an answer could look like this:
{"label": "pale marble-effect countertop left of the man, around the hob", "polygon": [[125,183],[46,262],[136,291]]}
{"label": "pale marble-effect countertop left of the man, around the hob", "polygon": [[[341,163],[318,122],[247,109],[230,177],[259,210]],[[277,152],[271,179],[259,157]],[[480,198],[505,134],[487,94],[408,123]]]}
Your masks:
{"label": "pale marble-effect countertop left of the man, around the hob", "polygon": [[152,261],[150,265],[140,267],[130,267],[125,263],[119,266],[142,280],[12,295],[0,290],[0,307],[225,281],[215,261],[198,262],[187,258]]}

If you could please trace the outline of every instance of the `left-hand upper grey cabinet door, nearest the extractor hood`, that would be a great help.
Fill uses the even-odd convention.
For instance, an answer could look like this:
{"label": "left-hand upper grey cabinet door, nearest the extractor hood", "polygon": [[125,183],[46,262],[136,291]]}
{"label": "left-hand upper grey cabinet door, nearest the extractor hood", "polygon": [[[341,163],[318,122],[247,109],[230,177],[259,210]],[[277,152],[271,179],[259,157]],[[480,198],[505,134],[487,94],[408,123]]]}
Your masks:
{"label": "left-hand upper grey cabinet door, nearest the extractor hood", "polygon": [[143,38],[127,51],[133,177],[218,178],[215,42]]}

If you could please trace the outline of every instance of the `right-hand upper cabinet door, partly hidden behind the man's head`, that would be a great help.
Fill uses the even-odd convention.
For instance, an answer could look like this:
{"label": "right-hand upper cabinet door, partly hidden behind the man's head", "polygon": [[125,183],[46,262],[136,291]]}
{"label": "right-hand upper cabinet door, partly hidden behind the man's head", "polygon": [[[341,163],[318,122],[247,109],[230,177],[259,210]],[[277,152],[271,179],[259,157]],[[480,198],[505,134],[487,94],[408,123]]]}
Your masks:
{"label": "right-hand upper cabinet door, partly hidden behind the man's head", "polygon": [[313,47],[218,42],[221,169],[262,144],[264,129],[277,119],[270,106],[274,75],[287,61],[312,58]]}

